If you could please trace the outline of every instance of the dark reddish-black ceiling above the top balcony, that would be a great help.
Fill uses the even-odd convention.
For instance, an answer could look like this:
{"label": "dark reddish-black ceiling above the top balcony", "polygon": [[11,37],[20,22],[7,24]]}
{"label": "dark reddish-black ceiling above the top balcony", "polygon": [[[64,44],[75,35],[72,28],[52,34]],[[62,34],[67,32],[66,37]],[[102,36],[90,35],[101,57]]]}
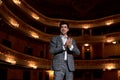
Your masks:
{"label": "dark reddish-black ceiling above the top balcony", "polygon": [[92,20],[120,13],[120,0],[25,0],[50,18]]}

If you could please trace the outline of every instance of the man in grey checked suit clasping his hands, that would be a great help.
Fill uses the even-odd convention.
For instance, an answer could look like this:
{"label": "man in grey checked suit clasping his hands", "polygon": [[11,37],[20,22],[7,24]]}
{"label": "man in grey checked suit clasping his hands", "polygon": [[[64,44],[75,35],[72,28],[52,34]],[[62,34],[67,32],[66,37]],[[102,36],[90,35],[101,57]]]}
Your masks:
{"label": "man in grey checked suit clasping his hands", "polygon": [[73,80],[74,58],[73,53],[79,55],[80,51],[76,42],[68,37],[69,25],[60,23],[60,35],[55,36],[50,42],[50,53],[53,54],[51,68],[54,70],[54,80]]}

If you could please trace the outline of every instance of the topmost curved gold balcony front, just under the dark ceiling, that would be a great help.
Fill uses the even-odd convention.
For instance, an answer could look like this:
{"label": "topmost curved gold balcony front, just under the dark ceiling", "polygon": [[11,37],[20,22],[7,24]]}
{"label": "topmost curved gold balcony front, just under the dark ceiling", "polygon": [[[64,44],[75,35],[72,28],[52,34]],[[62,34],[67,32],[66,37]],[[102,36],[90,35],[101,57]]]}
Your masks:
{"label": "topmost curved gold balcony front, just under the dark ceiling", "polygon": [[[9,3],[14,3],[12,0],[7,0]],[[14,4],[11,4],[15,6]],[[111,15],[111,16],[106,16],[104,18],[99,18],[99,19],[94,19],[94,20],[68,20],[68,19],[54,19],[54,18],[49,18],[37,10],[35,10],[32,6],[27,4],[24,0],[21,0],[21,4],[17,5],[21,10],[26,12],[30,17],[32,14],[35,14],[36,16],[33,17],[33,19],[36,19],[37,22],[43,23],[48,26],[52,27],[58,27],[58,24],[60,21],[66,21],[70,23],[71,28],[84,28],[84,25],[89,26],[89,28],[93,27],[100,27],[100,26],[107,26],[110,24],[115,24],[120,22],[120,14],[116,15]],[[112,22],[111,22],[112,21]]]}

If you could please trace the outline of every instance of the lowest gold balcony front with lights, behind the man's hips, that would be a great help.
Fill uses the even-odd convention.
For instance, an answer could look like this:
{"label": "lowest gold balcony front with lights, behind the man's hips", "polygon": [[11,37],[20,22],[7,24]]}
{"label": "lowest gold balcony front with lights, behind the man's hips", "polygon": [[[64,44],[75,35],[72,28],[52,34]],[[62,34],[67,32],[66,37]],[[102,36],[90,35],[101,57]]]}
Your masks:
{"label": "lowest gold balcony front with lights, behind the man's hips", "polygon": [[[0,44],[0,60],[27,68],[50,69],[51,60],[26,55]],[[119,69],[120,59],[75,60],[76,69]]]}

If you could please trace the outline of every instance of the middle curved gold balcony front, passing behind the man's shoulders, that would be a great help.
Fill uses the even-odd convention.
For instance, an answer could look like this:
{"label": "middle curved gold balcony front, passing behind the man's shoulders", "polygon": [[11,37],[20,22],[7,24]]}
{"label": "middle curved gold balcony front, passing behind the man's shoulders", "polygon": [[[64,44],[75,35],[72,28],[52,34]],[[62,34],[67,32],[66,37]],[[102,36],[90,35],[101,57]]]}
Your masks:
{"label": "middle curved gold balcony front, passing behind the man's shoulders", "polygon": [[[15,16],[4,3],[0,6],[0,14],[3,17],[3,20],[9,24],[13,29],[20,30],[22,33],[25,35],[37,39],[37,40],[42,40],[45,42],[49,42],[51,37],[55,36],[52,34],[47,34],[45,32],[42,32],[40,30],[35,29],[34,27],[28,25],[27,23],[23,22],[20,18]],[[120,18],[119,18],[120,19]],[[101,35],[101,36],[73,36],[73,38],[77,41],[77,43],[95,43],[95,42],[106,42],[107,38],[112,36],[114,40],[120,40],[119,32],[115,32],[118,34],[118,36],[112,36],[110,34],[106,35]],[[115,33],[112,33],[113,35]]]}

